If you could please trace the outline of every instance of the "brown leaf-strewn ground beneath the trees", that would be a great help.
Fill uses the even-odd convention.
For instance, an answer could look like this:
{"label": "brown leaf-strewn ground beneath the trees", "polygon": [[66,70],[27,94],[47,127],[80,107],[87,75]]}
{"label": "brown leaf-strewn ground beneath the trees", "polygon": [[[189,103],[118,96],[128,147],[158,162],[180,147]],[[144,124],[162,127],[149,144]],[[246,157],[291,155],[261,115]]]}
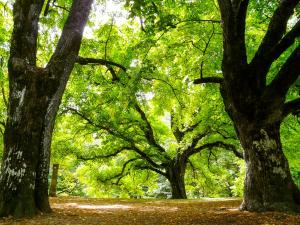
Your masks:
{"label": "brown leaf-strewn ground beneath the trees", "polygon": [[300,225],[300,214],[250,213],[240,200],[131,200],[51,198],[53,213],[31,219],[0,219],[15,225]]}

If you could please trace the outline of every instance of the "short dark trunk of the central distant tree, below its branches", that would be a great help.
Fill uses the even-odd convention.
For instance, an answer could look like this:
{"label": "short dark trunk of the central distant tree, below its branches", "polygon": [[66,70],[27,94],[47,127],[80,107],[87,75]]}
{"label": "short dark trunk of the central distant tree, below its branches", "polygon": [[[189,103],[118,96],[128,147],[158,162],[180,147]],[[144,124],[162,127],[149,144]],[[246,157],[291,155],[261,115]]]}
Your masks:
{"label": "short dark trunk of the central distant tree, below its branches", "polygon": [[167,179],[170,182],[173,199],[186,199],[184,175],[186,165],[174,159],[167,169]]}

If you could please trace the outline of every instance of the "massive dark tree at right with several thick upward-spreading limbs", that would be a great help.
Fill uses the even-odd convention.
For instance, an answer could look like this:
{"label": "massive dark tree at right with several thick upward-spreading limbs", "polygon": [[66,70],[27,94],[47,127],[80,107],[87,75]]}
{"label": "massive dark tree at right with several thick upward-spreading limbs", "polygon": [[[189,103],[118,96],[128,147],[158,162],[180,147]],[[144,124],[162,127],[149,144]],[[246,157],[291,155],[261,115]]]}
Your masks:
{"label": "massive dark tree at right with several thick upward-spreading limbs", "polygon": [[[300,98],[287,100],[300,74],[300,21],[288,26],[299,0],[276,6],[267,31],[250,60],[245,42],[249,0],[219,0],[223,27],[224,79],[219,80],[226,111],[245,151],[247,164],[242,209],[249,211],[295,210],[300,192],[282,151],[280,124],[300,112]],[[269,4],[269,3],[268,3]],[[265,6],[263,6],[265,7]],[[286,56],[270,82],[270,68]],[[249,60],[249,62],[248,62]]]}

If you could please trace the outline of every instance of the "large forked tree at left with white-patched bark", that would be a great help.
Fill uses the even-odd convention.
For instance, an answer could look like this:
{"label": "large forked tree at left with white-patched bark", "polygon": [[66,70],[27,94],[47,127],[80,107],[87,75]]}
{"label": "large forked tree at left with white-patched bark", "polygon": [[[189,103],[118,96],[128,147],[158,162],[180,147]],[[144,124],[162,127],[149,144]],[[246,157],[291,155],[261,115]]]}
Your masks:
{"label": "large forked tree at left with white-patched bark", "polygon": [[14,3],[0,216],[32,216],[38,210],[51,210],[48,173],[52,131],[62,94],[78,58],[92,0],[73,1],[55,52],[42,68],[36,61],[44,2],[16,0]]}

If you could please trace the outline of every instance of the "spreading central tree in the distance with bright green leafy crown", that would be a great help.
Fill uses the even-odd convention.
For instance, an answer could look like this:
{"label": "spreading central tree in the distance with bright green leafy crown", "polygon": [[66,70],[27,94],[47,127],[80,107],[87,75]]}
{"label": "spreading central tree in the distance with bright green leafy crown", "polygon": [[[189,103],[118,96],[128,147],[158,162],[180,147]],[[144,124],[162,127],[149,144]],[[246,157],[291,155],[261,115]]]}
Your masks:
{"label": "spreading central tree in the distance with bright green leafy crown", "polygon": [[[89,67],[84,70],[80,67],[76,78],[80,79],[81,76],[85,78],[82,78],[82,82],[78,82],[77,87],[72,86],[74,91],[70,93],[71,96],[64,111],[81,117],[88,126],[85,125],[84,128],[78,130],[94,132],[94,135],[101,140],[101,144],[98,147],[83,147],[82,151],[79,150],[79,153],[74,152],[74,154],[77,154],[81,160],[102,159],[105,162],[108,158],[114,157],[119,162],[118,164],[121,164],[122,160],[124,167],[120,169],[121,172],[109,177],[117,180],[116,183],[127,175],[128,168],[152,170],[169,180],[173,198],[186,198],[184,175],[186,166],[190,162],[189,158],[205,148],[234,149],[233,145],[220,141],[222,139],[216,138],[211,142],[204,140],[214,134],[208,128],[211,126],[209,122],[213,123],[213,119],[208,122],[207,118],[215,117],[221,120],[220,117],[222,118],[221,115],[224,114],[216,112],[215,108],[215,114],[210,113],[212,110],[208,105],[213,101],[209,101],[206,96],[211,94],[212,99],[216,98],[214,95],[216,89],[206,87],[201,94],[206,97],[206,101],[199,101],[195,97],[195,95],[199,96],[199,93],[196,93],[194,88],[201,88],[190,87],[192,81],[185,79],[185,70],[180,72],[181,65],[170,68],[168,64],[174,61],[170,55],[177,50],[180,51],[186,44],[190,45],[193,41],[192,37],[188,42],[181,40],[182,31],[178,31],[176,38],[165,38],[166,34],[159,38],[146,35],[141,40],[135,38],[135,41],[130,41],[133,43],[128,43],[127,38],[124,38],[124,35],[129,35],[128,28],[119,28],[119,32],[122,31],[122,37],[116,28],[113,24],[102,26],[102,29],[96,33],[107,33],[107,38],[103,40],[106,35],[102,35],[97,43],[105,43],[105,45],[102,47],[98,44],[92,46],[91,50],[85,48],[85,51],[94,51],[95,47],[99,50],[104,48],[103,51],[99,51],[100,54],[105,52],[104,58],[118,59],[121,64],[128,67],[128,70],[117,63],[112,64],[113,67],[107,67],[99,60],[81,61],[82,64],[85,62],[86,64],[101,64],[106,68],[100,67],[102,68],[100,69],[94,66],[92,70]],[[207,41],[204,41],[203,49],[200,40],[193,42],[196,46],[194,49],[198,53],[200,51],[205,54],[205,46],[211,42],[215,30],[214,27],[209,27],[208,30],[210,31],[209,37]],[[138,35],[135,36],[138,37]],[[110,42],[112,37],[114,37],[114,42],[107,47],[106,43]],[[136,43],[136,40],[139,42]],[[181,43],[182,41],[184,42]],[[170,42],[174,46],[172,49],[165,47],[165,43]],[[119,46],[122,46],[123,52],[120,51]],[[137,51],[139,54],[136,54]],[[166,54],[163,55],[162,52],[165,51]],[[191,58],[190,51],[185,51],[185,55]],[[162,58],[163,61],[161,61]],[[184,61],[186,62],[186,59],[182,59],[182,62]],[[204,62],[201,65],[203,68]],[[110,74],[107,75],[107,73]],[[170,76],[170,73],[178,73],[178,76]],[[154,96],[151,101],[143,97],[149,94]],[[137,96],[138,99],[132,96]],[[174,111],[170,127],[159,122],[159,117],[175,108],[177,110],[175,110],[176,113]],[[206,112],[203,115],[207,114],[205,115],[207,118],[201,118],[200,113],[195,118],[196,111]],[[217,127],[216,121],[214,123]],[[241,154],[239,156],[241,157]],[[121,159],[118,160],[119,158]],[[107,181],[109,178],[99,180]]]}

